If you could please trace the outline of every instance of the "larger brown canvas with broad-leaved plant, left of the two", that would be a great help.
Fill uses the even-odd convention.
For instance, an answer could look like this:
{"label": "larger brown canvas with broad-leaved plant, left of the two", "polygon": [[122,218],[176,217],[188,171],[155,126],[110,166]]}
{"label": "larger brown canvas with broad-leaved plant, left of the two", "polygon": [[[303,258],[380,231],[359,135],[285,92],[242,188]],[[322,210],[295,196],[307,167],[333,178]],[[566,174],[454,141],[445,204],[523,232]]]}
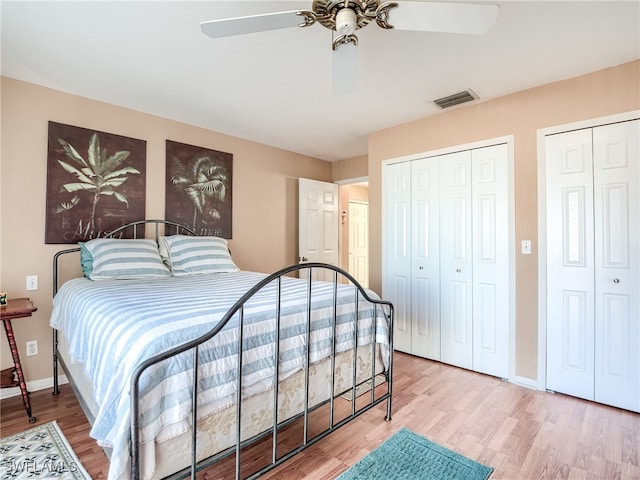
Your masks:
{"label": "larger brown canvas with broad-leaved plant, left of the two", "polygon": [[45,243],[99,238],[145,214],[144,140],[49,122]]}

